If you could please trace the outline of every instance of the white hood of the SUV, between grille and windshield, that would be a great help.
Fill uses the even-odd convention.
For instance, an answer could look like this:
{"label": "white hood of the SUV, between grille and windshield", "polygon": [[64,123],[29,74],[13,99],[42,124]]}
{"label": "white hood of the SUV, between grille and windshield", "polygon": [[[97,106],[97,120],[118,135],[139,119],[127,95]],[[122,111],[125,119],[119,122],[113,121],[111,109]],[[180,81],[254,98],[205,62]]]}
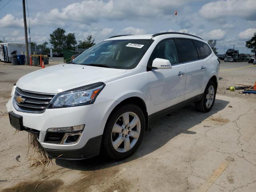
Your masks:
{"label": "white hood of the SUV, between grille and windshield", "polygon": [[17,81],[16,85],[28,91],[59,93],[96,82],[104,82],[125,72],[125,69],[59,64],[26,74]]}

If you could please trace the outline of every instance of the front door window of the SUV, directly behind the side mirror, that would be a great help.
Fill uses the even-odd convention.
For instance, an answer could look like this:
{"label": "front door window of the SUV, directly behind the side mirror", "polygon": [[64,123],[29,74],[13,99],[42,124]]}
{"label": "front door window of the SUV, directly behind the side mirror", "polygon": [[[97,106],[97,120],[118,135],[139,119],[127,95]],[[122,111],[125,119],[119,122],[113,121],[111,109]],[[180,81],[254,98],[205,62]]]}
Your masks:
{"label": "front door window of the SUV, directly behind the side mirror", "polygon": [[178,52],[174,40],[168,39],[160,42],[153,52],[152,61],[155,58],[169,60],[172,65],[179,63]]}

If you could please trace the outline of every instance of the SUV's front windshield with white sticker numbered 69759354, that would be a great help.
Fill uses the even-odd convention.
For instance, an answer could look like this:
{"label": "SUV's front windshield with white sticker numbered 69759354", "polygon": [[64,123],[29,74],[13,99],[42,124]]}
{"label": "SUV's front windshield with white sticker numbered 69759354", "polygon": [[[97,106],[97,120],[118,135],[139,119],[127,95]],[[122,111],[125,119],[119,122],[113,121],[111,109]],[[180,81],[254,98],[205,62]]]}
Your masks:
{"label": "SUV's front windshield with white sticker numbered 69759354", "polygon": [[153,40],[106,40],[83,52],[72,63],[118,69],[135,68]]}

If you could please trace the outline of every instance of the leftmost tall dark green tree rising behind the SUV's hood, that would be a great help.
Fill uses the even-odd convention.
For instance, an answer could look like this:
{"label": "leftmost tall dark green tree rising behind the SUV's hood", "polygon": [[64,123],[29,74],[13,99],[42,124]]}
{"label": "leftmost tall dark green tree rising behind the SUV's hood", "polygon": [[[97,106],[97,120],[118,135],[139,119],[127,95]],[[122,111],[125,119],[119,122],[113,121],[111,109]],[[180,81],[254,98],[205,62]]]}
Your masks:
{"label": "leftmost tall dark green tree rising behind the SUV's hood", "polygon": [[62,28],[57,28],[50,34],[49,42],[53,45],[53,48],[58,52],[62,51],[62,47],[66,45],[66,35],[65,30]]}

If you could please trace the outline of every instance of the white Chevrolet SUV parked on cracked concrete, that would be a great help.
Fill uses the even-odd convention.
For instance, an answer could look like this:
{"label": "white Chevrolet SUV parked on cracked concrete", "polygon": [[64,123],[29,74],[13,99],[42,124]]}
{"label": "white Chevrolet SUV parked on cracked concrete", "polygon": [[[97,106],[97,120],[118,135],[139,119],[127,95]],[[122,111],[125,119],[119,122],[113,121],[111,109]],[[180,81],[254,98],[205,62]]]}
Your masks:
{"label": "white Chevrolet SUV parked on cracked concrete", "polygon": [[6,104],[10,123],[32,132],[55,158],[100,152],[120,160],[140,145],[150,120],[194,102],[211,110],[220,61],[197,36],[114,36],[70,64],[20,78]]}

